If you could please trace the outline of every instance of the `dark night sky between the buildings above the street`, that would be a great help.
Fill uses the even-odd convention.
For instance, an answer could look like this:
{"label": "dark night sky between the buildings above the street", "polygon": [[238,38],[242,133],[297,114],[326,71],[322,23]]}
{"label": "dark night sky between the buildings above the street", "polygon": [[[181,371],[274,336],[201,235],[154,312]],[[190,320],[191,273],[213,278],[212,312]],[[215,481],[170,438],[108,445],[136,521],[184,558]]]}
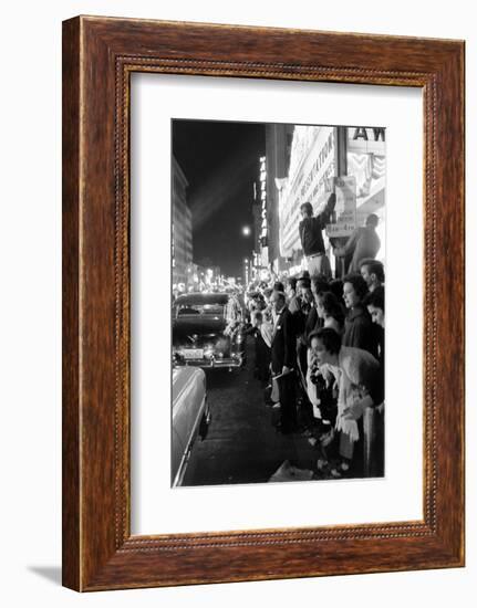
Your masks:
{"label": "dark night sky between the buildings above the street", "polygon": [[173,153],[189,187],[194,262],[209,258],[230,276],[242,273],[250,256],[253,181],[265,155],[265,125],[212,120],[173,120]]}

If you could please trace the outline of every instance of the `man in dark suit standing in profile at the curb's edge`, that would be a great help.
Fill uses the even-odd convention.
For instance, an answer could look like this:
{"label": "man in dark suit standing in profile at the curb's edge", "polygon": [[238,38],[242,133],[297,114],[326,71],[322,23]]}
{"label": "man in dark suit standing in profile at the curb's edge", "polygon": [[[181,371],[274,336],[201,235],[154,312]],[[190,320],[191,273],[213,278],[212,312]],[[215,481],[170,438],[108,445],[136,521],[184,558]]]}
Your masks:
{"label": "man in dark suit standing in profile at the curb's edge", "polygon": [[271,342],[271,371],[277,378],[280,399],[280,430],[291,433],[297,429],[295,374],[297,337],[293,317],[286,306],[282,292],[273,292],[270,298],[273,312],[273,337]]}

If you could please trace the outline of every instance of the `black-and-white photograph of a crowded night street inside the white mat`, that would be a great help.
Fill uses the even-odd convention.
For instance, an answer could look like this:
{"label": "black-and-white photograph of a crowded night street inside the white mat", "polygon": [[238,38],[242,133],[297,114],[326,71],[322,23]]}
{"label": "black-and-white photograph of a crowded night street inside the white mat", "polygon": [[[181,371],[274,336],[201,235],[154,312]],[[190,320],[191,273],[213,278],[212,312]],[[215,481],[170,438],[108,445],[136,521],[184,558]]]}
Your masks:
{"label": "black-and-white photograph of a crowded night street inside the white mat", "polygon": [[172,120],[172,486],[384,476],[385,134]]}

